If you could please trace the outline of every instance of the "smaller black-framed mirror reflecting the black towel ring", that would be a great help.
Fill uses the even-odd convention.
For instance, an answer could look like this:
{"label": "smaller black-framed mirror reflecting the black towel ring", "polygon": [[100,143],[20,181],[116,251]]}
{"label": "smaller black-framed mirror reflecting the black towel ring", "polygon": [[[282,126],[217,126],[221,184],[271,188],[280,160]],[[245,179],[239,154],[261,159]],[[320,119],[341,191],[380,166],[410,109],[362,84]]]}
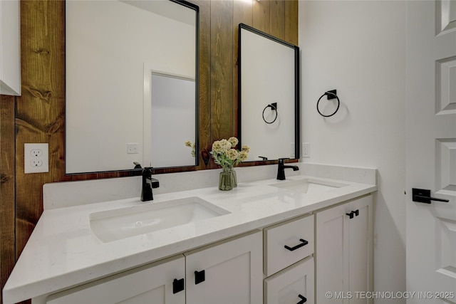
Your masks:
{"label": "smaller black-framed mirror reflecting the black towel ring", "polygon": [[299,47],[240,23],[239,103],[247,161],[299,158]]}

